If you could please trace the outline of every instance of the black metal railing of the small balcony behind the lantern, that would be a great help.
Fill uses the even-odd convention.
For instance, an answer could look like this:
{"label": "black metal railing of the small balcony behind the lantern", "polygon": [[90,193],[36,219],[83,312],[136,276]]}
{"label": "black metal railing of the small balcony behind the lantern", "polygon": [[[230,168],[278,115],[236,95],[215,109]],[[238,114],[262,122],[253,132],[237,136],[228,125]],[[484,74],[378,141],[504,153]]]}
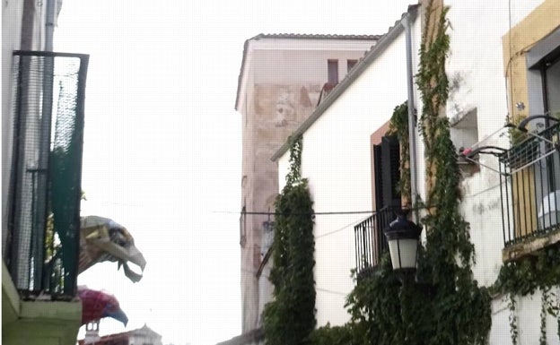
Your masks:
{"label": "black metal railing of the small balcony behind the lantern", "polygon": [[370,274],[389,250],[383,230],[395,220],[396,210],[384,208],[354,226],[356,274],[358,279]]}

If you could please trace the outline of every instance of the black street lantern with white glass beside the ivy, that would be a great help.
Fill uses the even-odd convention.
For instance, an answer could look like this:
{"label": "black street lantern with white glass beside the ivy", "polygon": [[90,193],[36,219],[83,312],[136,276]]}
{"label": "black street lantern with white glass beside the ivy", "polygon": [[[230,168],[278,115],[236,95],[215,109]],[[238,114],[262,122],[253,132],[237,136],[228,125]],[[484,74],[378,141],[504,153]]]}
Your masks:
{"label": "black street lantern with white glass beside the ivy", "polygon": [[422,227],[415,222],[407,220],[405,213],[399,213],[396,220],[384,230],[389,243],[389,254],[393,271],[416,271],[416,254]]}

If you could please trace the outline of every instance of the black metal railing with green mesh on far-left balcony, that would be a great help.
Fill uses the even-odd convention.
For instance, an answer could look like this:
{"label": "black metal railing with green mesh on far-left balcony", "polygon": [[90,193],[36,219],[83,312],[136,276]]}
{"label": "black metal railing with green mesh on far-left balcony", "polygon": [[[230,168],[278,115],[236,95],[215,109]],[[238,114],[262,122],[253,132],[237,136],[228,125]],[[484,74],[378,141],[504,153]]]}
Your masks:
{"label": "black metal railing with green mesh on far-left balcony", "polygon": [[4,262],[16,289],[74,298],[88,56],[13,53],[13,144]]}

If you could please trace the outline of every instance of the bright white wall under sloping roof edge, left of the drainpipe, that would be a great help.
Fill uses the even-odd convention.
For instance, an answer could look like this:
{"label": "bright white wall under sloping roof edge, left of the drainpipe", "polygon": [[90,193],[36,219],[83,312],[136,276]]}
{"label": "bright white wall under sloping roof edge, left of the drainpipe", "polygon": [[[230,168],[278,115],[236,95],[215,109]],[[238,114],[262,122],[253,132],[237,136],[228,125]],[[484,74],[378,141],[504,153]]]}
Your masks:
{"label": "bright white wall under sloping roof edge, left of the drainpipe", "polygon": [[[420,20],[413,28],[420,39]],[[371,211],[370,135],[407,99],[404,31],[303,134],[302,177],[316,212]],[[289,152],[279,160],[284,185]],[[346,323],[346,296],[354,288],[354,225],[369,214],[317,215],[315,282],[317,324]]]}

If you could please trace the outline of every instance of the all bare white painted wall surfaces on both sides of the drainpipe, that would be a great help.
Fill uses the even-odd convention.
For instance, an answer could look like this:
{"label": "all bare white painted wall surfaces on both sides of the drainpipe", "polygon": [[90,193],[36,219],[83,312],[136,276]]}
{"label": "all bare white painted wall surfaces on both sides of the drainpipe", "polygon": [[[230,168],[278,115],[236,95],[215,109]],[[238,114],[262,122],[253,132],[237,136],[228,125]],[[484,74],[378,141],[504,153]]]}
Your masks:
{"label": "all bare white painted wall surfaces on both sides of the drainpipe", "polygon": [[[458,88],[451,92],[447,114],[457,116],[477,109],[478,141],[508,147],[506,136],[495,134],[503,127],[507,115],[502,38],[510,25],[525,18],[542,1],[464,2],[448,0],[451,9],[451,52],[447,72]],[[511,13],[511,16],[510,16]],[[420,21],[414,27],[413,50],[418,50]],[[369,135],[389,119],[392,108],[407,98],[405,79],[404,34],[337,99],[337,101],[303,134],[302,176],[309,178],[315,211],[357,211],[371,208],[371,173],[369,169]],[[417,66],[416,61],[413,65]],[[399,68],[402,66],[402,69]],[[380,81],[382,81],[380,83]],[[422,101],[416,91],[416,108]],[[454,131],[454,135],[460,134]],[[418,189],[425,200],[424,146],[416,137]],[[456,138],[467,139],[466,138]],[[481,162],[497,168],[493,156]],[[284,185],[288,171],[288,153],[278,161],[279,185]],[[476,248],[477,264],[473,271],[479,285],[494,283],[502,266],[502,215],[499,177],[489,168],[464,179],[461,212],[470,223],[471,240]],[[354,268],[353,226],[361,216],[321,216],[315,224],[318,326],[327,322],[345,323],[345,296],[354,284],[348,272]],[[558,288],[553,289],[558,293]],[[520,344],[538,342],[540,292],[519,298]],[[510,311],[507,300],[494,298],[491,344],[511,343]],[[558,344],[556,320],[547,317],[547,341]]]}

